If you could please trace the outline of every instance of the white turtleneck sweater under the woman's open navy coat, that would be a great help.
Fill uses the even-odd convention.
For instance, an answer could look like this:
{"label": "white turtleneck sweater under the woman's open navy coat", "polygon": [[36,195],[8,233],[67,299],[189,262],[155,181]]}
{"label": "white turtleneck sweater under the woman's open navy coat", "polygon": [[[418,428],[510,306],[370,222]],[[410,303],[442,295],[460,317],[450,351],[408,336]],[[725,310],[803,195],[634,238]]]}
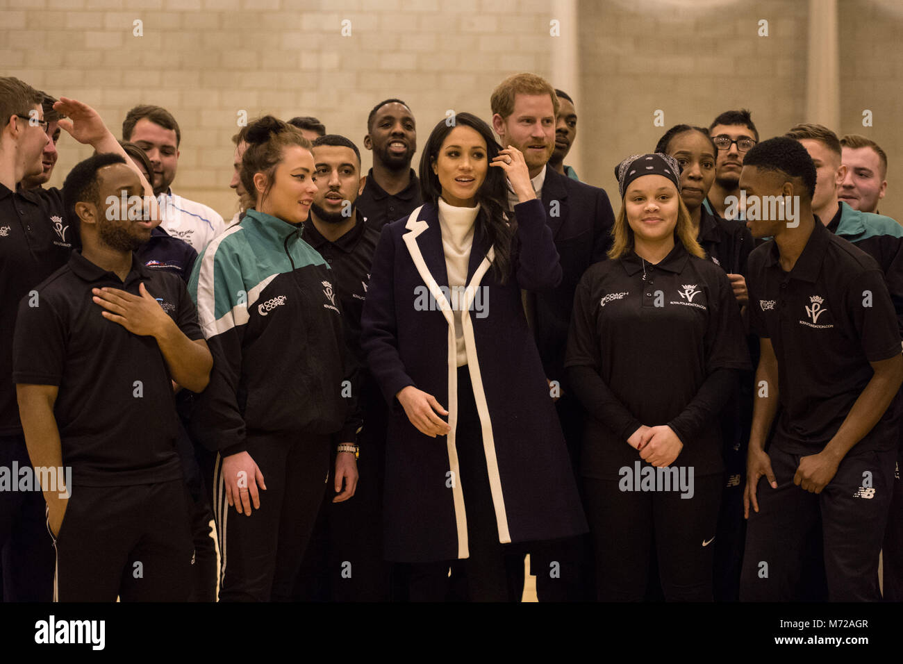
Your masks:
{"label": "white turtleneck sweater under the woman's open navy coat", "polygon": [[439,199],[439,226],[442,229],[442,250],[445,253],[445,270],[449,277],[449,289],[454,314],[454,337],[458,355],[458,367],[467,364],[464,346],[464,328],[461,324],[461,307],[464,305],[464,287],[467,285],[467,269],[470,266],[470,247],[473,245],[473,223],[477,219],[479,204],[475,208],[457,208]]}

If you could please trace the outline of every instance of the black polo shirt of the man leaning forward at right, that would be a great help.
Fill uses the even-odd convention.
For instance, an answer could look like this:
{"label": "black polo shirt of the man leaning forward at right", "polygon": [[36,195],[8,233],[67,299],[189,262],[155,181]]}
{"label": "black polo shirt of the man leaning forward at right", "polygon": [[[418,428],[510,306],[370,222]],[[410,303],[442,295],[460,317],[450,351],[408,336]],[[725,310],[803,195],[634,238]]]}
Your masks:
{"label": "black polo shirt of the man leaning forward at right", "polygon": [[[790,454],[820,452],[871,379],[869,362],[900,354],[893,304],[878,264],[817,218],[796,265],[780,267],[769,240],[749,256],[749,325],[771,340],[781,415],[772,444]],[[897,444],[890,407],[853,448]]]}

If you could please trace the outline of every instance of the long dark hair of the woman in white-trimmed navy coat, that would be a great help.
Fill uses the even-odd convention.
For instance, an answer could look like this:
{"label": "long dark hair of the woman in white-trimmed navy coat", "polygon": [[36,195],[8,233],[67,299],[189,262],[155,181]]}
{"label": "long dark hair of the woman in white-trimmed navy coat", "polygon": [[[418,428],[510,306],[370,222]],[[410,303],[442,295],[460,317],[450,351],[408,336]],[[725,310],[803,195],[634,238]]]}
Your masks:
{"label": "long dark hair of the woman in white-trimmed navy coat", "polygon": [[[455,126],[470,126],[486,141],[486,160],[491,164],[498,155],[501,146],[496,143],[492,130],[479,117],[471,113],[458,113],[439,121],[433,127],[430,137],[426,139],[424,152],[420,157],[420,192],[424,202],[439,205],[439,197],[442,195],[442,185],[439,176],[433,173],[433,162],[439,156],[439,150]],[[514,215],[508,215],[510,221],[505,220],[505,213],[509,212],[507,204],[507,178],[505,171],[498,166],[488,166],[486,179],[477,190],[476,201],[479,203],[479,213],[474,222],[474,238],[486,238],[489,246],[495,247],[496,257],[493,261],[493,269],[496,270],[498,281],[504,284],[511,273],[511,241],[517,230],[517,222]]]}

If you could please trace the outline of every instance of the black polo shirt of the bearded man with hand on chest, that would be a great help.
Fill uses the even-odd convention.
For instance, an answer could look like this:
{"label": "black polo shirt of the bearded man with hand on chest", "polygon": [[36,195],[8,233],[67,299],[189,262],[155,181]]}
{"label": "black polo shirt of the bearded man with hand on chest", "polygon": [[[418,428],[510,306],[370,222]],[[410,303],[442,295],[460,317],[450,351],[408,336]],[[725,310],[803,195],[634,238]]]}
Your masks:
{"label": "black polo shirt of the bearded man with hand on chest", "polygon": [[57,385],[53,409],[62,461],[76,486],[125,486],[182,477],[169,369],[153,337],[128,332],[101,315],[91,288],[110,286],[157,298],[189,339],[203,339],[182,279],[149,270],[134,255],[122,282],[76,250],[37,286],[37,306],[19,305],[14,338],[16,383]]}

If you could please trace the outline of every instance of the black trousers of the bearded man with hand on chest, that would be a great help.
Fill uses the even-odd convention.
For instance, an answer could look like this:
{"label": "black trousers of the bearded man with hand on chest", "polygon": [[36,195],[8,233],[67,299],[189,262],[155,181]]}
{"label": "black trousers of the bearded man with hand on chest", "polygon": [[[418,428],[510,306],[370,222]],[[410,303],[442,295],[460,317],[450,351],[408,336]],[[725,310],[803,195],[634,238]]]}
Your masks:
{"label": "black trousers of the bearded man with hand on chest", "polygon": [[70,491],[54,542],[57,601],[187,601],[193,547],[182,479]]}

